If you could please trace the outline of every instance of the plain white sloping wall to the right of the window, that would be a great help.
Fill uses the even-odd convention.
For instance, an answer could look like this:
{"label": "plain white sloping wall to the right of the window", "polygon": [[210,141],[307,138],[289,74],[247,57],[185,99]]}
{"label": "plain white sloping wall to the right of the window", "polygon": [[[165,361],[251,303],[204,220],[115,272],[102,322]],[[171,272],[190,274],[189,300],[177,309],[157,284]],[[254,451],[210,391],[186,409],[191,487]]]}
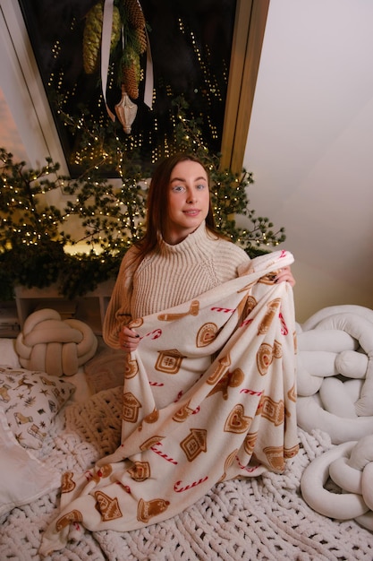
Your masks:
{"label": "plain white sloping wall to the right of the window", "polygon": [[284,226],[299,322],[373,307],[373,2],[271,0],[244,166]]}

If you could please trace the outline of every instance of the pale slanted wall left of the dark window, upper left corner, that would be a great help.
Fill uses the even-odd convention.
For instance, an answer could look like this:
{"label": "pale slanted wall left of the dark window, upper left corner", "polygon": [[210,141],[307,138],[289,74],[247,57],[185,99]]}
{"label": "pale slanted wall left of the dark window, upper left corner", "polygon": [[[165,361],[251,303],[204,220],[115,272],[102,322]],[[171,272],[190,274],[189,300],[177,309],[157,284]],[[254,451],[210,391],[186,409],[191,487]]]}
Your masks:
{"label": "pale slanted wall left of the dark window, upper left corner", "polygon": [[[14,126],[13,148],[20,137],[19,150],[7,143]],[[68,172],[21,8],[13,0],[0,0],[0,142],[17,160],[22,152],[32,168],[51,156],[62,174]]]}

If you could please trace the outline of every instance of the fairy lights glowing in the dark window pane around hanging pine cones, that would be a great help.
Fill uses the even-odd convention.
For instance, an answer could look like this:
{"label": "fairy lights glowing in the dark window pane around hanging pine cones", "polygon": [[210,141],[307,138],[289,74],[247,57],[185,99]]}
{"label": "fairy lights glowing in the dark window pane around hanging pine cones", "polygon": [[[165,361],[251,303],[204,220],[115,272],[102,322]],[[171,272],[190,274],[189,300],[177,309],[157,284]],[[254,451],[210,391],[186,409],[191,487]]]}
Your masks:
{"label": "fairy lights glowing in the dark window pane around hanging pine cones", "polygon": [[[224,58],[219,61],[218,71],[214,65],[211,65],[211,51],[208,45],[204,45],[204,55],[202,55],[199,40],[196,38],[194,30],[191,29],[190,25],[186,24],[182,17],[177,19],[178,30],[185,38],[186,43],[191,48],[191,52],[194,58],[194,64],[199,68],[199,83],[195,85],[194,93],[199,97],[204,99],[203,106],[210,108],[211,110],[203,111],[203,113],[197,115],[197,118],[202,118],[202,128],[204,130],[204,135],[210,138],[213,142],[218,145],[220,135],[222,133],[222,122],[216,123],[216,112],[212,111],[213,104],[215,107],[220,109],[217,111],[219,119],[224,114],[225,105],[225,92],[228,82],[229,67]],[[70,32],[73,34],[79,26],[79,22],[72,17],[72,22],[70,23]],[[152,38],[153,40],[153,38]],[[78,83],[73,83],[69,85],[69,82],[65,80],[66,69],[63,65],[59,65],[59,59],[61,58],[63,51],[61,39],[55,39],[55,43],[51,47],[51,53],[55,60],[55,65],[52,65],[52,70],[47,77],[47,88],[49,91],[55,91],[59,96],[59,104],[56,107],[57,116],[61,117],[60,122],[63,127],[69,128],[71,124],[65,121],[63,114],[70,114],[69,108],[74,107],[75,101],[79,101],[79,85]],[[116,85],[116,68],[115,64],[112,62],[108,67],[107,73],[107,90],[115,90]],[[144,78],[144,68],[141,67],[141,79]],[[99,82],[99,81],[97,81]],[[168,126],[166,127],[168,133],[165,134],[165,115],[162,113],[161,116],[157,114],[157,99],[160,93],[165,95],[168,99],[174,99],[175,92],[173,87],[167,82],[167,78],[164,75],[159,75],[155,88],[153,89],[153,108],[148,118],[141,120],[141,126],[137,127],[135,132],[129,137],[124,137],[123,134],[117,137],[116,142],[125,142],[127,151],[142,151],[145,150],[149,152],[149,158],[151,164],[154,164],[163,156],[167,156],[174,151],[173,131],[178,123],[178,116],[175,115],[173,109],[169,109],[167,114]],[[105,102],[103,99],[102,92],[97,88],[96,92],[93,92],[94,97],[97,97],[97,104],[90,111],[89,115],[85,117],[74,115],[76,136],[79,136],[79,131],[84,127],[84,120],[89,117],[91,122],[96,122],[98,129],[103,129],[107,125],[107,114],[105,110]],[[217,103],[217,106],[216,106]],[[150,115],[150,117],[149,117]],[[145,128],[144,128],[145,125]],[[69,136],[69,134],[68,134]],[[75,139],[77,141],[77,139]],[[106,168],[113,168],[116,164],[116,159],[114,154],[105,153],[105,145],[100,142],[99,138],[92,139],[92,142],[87,142],[84,138],[84,142],[79,144],[74,142],[71,152],[70,162],[76,168],[84,168],[89,166],[89,162],[95,162],[96,160],[105,160]]]}

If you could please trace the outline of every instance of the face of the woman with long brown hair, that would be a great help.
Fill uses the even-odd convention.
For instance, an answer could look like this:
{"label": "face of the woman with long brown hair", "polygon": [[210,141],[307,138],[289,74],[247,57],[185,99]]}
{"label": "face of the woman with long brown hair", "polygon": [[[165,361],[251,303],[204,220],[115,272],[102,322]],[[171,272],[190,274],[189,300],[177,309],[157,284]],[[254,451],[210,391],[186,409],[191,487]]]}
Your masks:
{"label": "face of the woman with long brown hair", "polygon": [[208,176],[202,166],[184,160],[174,167],[168,185],[168,217],[165,241],[180,243],[208,216]]}

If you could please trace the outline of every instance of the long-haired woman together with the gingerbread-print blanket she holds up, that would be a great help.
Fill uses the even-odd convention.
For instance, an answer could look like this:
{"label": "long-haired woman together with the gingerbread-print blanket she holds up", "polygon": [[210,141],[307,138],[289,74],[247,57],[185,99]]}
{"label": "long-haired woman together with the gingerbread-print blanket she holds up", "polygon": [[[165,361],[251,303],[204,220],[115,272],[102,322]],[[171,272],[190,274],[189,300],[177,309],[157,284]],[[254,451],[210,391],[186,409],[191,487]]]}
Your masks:
{"label": "long-haired woman together with the gingerbread-print blanket she holds up", "polygon": [[299,447],[291,263],[285,251],[250,261],[216,232],[198,160],[160,164],[104,324],[126,351],[121,444],[66,474],[43,555],[81,526],[136,530],[216,483],[284,470]]}

